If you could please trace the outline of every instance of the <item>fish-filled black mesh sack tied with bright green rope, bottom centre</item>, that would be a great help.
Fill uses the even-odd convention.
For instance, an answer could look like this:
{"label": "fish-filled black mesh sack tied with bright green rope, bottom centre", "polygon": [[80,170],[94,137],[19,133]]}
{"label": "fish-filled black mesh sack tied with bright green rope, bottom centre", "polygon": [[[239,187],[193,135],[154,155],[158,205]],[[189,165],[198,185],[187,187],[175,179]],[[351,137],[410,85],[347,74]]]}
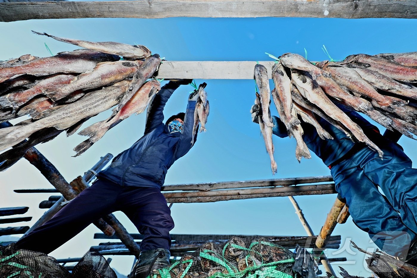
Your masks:
{"label": "fish-filled black mesh sack tied with bright green rope, bottom centre", "polygon": [[[150,278],[293,278],[294,253],[263,237],[204,243]],[[298,276],[299,277],[299,276]]]}

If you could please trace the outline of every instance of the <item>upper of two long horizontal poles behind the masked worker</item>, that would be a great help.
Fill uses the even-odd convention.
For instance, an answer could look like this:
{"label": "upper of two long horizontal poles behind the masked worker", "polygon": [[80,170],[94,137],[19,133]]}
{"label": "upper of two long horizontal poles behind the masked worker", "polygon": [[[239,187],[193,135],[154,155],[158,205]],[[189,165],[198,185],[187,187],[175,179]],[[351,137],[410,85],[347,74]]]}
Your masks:
{"label": "upper of two long horizontal poles behind the masked worker", "polygon": [[216,189],[233,189],[246,187],[266,187],[266,186],[289,186],[296,184],[314,183],[314,182],[332,182],[332,176],[317,176],[317,177],[295,177],[282,179],[257,179],[257,180],[243,180],[233,182],[207,182],[200,184],[173,184],[166,185],[161,188],[161,191],[174,190],[216,190]]}

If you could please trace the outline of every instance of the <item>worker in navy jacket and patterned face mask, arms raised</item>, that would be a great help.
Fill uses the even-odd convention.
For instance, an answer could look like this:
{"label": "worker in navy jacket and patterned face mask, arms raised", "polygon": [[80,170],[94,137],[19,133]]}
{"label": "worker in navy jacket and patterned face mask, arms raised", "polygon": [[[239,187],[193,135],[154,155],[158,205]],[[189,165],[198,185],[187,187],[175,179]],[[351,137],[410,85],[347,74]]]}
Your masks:
{"label": "worker in navy jacket and patterned face mask, arms raised", "polygon": [[[193,117],[198,95],[188,99],[186,113],[163,122],[163,108],[173,91],[191,80],[170,81],[148,106],[145,134],[118,154],[98,173],[91,187],[63,207],[51,220],[20,239],[18,248],[50,253],[100,217],[124,212],[144,235],[136,271],[131,277],[146,277],[151,268],[169,264],[174,222],[161,193],[167,170],[185,155],[191,144]],[[194,139],[196,142],[196,138]]]}

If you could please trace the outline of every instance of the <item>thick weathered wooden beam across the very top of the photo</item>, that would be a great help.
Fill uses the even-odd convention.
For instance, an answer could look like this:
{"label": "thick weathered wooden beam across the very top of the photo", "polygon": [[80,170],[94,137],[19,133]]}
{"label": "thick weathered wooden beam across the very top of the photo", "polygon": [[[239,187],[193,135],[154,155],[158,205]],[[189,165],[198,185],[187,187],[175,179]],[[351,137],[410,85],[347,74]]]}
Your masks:
{"label": "thick weathered wooden beam across the very top of the photo", "polygon": [[414,0],[150,0],[0,3],[0,21],[49,18],[417,18]]}

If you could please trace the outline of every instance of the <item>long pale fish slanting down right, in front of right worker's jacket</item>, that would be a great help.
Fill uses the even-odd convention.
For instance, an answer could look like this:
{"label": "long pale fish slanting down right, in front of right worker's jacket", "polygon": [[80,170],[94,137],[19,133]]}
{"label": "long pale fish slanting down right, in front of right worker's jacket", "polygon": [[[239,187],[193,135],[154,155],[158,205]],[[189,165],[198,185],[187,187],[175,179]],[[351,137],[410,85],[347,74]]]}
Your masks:
{"label": "long pale fish slanting down right, in front of right worker's jacket", "polygon": [[306,71],[291,70],[291,79],[299,89],[301,95],[311,103],[317,105],[331,118],[339,121],[349,129],[354,137],[367,144],[374,151],[377,151],[382,158],[382,150],[379,149],[362,131],[361,127],[352,121],[342,110],[340,110],[323,92],[322,88],[313,80],[312,76]]}

